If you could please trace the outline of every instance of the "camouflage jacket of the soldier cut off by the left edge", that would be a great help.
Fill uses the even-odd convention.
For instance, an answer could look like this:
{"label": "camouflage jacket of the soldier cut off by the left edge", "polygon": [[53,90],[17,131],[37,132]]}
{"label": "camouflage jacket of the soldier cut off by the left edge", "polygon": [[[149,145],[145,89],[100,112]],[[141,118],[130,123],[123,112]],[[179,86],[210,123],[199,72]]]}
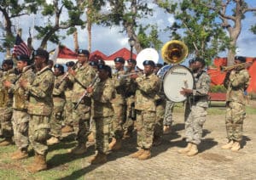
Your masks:
{"label": "camouflage jacket of the soldier cut off by the left edge", "polygon": [[8,71],[3,71],[3,76],[1,77],[0,82],[0,107],[12,107],[13,105],[13,92],[9,91],[8,87],[3,86],[3,82],[9,81],[11,83],[14,83],[16,81],[16,74],[15,69],[11,69]]}

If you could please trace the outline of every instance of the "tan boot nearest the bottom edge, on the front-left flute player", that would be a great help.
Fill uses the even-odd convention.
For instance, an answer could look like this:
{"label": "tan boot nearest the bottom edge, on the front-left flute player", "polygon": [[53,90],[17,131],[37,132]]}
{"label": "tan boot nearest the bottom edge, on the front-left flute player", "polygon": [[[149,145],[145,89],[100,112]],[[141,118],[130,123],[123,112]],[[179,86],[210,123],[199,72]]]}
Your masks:
{"label": "tan boot nearest the bottom edge, on the front-left flute player", "polygon": [[46,155],[35,155],[32,165],[27,166],[26,170],[31,173],[40,172],[47,169]]}

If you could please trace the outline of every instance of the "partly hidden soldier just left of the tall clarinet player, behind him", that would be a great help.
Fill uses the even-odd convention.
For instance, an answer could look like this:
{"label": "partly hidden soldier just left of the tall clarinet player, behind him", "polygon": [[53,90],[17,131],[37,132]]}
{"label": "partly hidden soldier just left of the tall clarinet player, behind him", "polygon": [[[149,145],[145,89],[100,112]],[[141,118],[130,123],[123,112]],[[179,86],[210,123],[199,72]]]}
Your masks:
{"label": "partly hidden soldier just left of the tall clarinet player, behind him", "polygon": [[[68,61],[66,63],[67,71],[75,65],[73,61]],[[66,72],[68,73],[68,72]],[[66,76],[66,74],[65,74]],[[64,106],[64,124],[65,127],[62,127],[61,132],[73,132],[73,119],[72,119],[72,111],[73,111],[73,102],[72,102],[72,94],[73,94],[73,82],[67,81],[66,88],[65,88],[65,98],[66,103]]]}

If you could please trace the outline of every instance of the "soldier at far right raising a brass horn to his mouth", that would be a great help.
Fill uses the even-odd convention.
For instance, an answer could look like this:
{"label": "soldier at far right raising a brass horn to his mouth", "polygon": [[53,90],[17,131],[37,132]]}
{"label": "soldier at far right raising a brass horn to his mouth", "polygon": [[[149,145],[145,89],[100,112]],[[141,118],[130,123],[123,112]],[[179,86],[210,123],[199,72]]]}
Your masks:
{"label": "soldier at far right raising a brass horn to his mouth", "polygon": [[[235,65],[245,62],[245,57],[235,57]],[[222,149],[231,149],[232,151],[241,149],[242,124],[246,118],[244,91],[247,89],[249,79],[249,73],[244,65],[230,70],[224,79],[224,87],[227,88],[225,122],[229,142],[222,146]]]}

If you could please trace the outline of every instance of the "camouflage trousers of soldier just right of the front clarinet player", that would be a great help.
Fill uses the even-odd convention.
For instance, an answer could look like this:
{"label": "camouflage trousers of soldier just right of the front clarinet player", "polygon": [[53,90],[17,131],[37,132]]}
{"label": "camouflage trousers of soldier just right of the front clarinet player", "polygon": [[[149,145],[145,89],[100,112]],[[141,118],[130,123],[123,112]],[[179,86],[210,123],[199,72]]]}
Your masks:
{"label": "camouflage trousers of soldier just right of the front clarinet player", "polygon": [[125,106],[124,104],[112,104],[113,105],[113,132],[112,136],[117,139],[123,138],[124,129],[123,124],[125,122]]}

